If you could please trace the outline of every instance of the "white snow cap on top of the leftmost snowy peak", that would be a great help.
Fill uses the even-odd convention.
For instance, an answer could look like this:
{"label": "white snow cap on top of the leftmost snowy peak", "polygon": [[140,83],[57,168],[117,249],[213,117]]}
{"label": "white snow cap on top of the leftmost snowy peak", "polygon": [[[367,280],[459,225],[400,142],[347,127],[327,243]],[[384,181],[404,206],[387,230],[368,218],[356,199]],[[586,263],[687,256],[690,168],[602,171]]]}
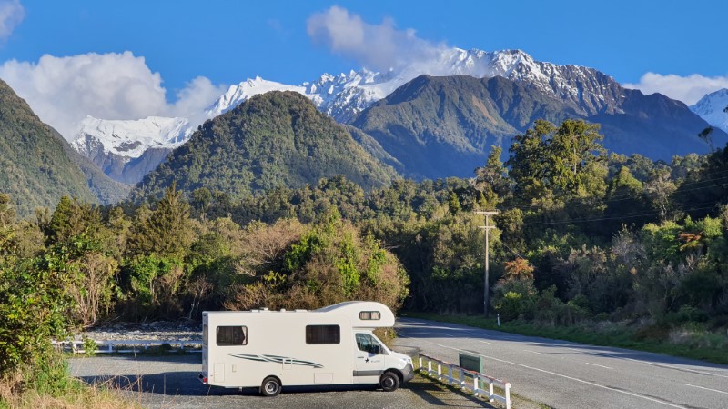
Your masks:
{"label": "white snow cap on top of the leftmost snowy peak", "polygon": [[147,116],[136,120],[112,120],[86,116],[71,145],[87,156],[94,155],[92,148],[100,144],[105,154],[136,158],[148,148],[174,149],[184,144],[190,134],[187,118]]}

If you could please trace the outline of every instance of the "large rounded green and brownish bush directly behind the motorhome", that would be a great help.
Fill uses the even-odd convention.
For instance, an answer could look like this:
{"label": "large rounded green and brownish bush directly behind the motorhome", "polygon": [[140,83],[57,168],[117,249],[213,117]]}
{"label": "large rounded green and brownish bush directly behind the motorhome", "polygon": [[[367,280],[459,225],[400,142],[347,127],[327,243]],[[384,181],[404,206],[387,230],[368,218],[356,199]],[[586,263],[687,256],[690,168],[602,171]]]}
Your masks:
{"label": "large rounded green and brownish bush directly behind the motorhome", "polygon": [[[264,236],[277,225],[259,225]],[[248,276],[227,291],[227,309],[316,309],[348,300],[370,300],[393,310],[408,294],[409,277],[397,258],[373,237],[361,237],[336,212],[325,215],[302,234],[280,235],[273,245],[284,252],[247,261]],[[292,241],[290,241],[292,240]],[[270,268],[278,267],[278,271]]]}

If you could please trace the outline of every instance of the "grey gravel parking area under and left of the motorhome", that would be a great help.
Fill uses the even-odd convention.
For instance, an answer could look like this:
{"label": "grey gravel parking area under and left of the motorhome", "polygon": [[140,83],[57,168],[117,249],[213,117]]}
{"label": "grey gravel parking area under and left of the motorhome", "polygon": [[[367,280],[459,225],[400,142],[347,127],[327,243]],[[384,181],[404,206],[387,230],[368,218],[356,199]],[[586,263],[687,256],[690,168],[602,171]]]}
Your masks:
{"label": "grey gravel parking area under and left of the motorhome", "polygon": [[96,356],[69,360],[72,375],[89,384],[107,384],[127,399],[153,408],[420,408],[492,407],[467,394],[416,376],[395,392],[336,387],[312,389],[284,385],[266,398],[254,389],[209,387],[197,380],[199,354]]}

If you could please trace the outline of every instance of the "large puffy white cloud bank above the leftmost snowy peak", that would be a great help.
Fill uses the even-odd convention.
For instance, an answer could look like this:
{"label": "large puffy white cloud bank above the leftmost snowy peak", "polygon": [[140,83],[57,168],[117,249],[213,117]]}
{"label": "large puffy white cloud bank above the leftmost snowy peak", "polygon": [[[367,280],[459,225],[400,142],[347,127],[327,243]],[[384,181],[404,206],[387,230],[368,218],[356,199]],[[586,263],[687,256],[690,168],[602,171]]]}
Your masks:
{"label": "large puffy white cloud bank above the leftmost snowy peak", "polygon": [[0,66],[0,78],[66,139],[86,115],[102,119],[196,118],[225,89],[197,77],[177,93],[176,103],[169,104],[161,75],[147,67],[144,57],[128,51],[44,55],[37,63],[11,60]]}

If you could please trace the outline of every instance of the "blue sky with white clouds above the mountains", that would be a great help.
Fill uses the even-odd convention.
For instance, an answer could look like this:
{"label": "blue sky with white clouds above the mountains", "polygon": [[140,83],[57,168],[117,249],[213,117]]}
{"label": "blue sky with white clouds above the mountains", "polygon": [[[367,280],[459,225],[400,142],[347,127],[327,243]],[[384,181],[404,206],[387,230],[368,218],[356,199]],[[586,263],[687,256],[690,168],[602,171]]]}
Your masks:
{"label": "blue sky with white clouds above the mountains", "polygon": [[0,0],[0,78],[66,137],[86,115],[200,113],[257,75],[300,84],[443,46],[518,48],[688,105],[728,87],[728,2]]}

